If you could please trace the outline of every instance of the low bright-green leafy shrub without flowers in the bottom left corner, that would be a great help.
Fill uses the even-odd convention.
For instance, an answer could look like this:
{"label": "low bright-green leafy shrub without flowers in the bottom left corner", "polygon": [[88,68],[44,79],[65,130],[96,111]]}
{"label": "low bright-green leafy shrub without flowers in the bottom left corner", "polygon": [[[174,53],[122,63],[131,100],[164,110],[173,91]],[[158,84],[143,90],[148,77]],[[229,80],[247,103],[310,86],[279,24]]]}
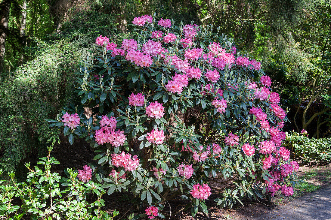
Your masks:
{"label": "low bright-green leafy shrub without flowers in the bottom left corner", "polygon": [[116,210],[110,216],[101,209],[106,193],[101,184],[79,181],[71,168],[67,168],[69,178],[51,173],[52,164],[60,164],[50,157],[52,149],[48,147],[48,156],[38,162],[43,169],[25,164],[29,169],[25,182],[17,183],[13,171],[8,173],[13,185],[3,185],[4,180],[0,180],[0,219],[112,220],[118,215]]}

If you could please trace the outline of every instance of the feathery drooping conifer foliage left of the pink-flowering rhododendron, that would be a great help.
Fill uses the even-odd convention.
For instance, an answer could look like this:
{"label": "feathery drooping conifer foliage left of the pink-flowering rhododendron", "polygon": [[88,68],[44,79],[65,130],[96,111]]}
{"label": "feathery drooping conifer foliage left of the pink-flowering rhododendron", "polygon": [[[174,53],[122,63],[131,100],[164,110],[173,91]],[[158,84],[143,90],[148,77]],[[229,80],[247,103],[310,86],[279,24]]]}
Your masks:
{"label": "feathery drooping conifer foliage left of the pink-flowering rhododendron", "polygon": [[11,170],[26,155],[43,153],[59,131],[49,129],[45,118],[56,116],[73,101],[73,75],[80,63],[72,44],[38,41],[36,56],[0,82],[0,168]]}

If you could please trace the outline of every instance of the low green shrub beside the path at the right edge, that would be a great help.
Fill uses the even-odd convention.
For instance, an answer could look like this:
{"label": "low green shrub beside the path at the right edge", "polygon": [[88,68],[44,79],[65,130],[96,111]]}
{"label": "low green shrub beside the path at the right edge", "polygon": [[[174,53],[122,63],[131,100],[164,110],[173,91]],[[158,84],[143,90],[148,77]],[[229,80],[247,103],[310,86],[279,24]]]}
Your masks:
{"label": "low green shrub beside the path at the right edge", "polygon": [[330,138],[311,138],[305,133],[286,132],[284,146],[291,150],[294,157],[307,159],[308,162],[331,161],[331,139]]}

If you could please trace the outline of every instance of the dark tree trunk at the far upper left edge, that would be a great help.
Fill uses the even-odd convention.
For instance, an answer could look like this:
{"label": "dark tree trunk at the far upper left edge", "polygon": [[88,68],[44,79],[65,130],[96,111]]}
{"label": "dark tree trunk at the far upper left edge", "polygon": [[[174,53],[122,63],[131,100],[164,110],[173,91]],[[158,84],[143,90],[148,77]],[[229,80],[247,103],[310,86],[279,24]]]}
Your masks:
{"label": "dark tree trunk at the far upper left edge", "polygon": [[0,17],[0,73],[4,69],[4,59],[6,55],[6,38],[8,31],[8,16],[9,16],[9,4],[10,1],[4,1],[1,3],[1,17]]}

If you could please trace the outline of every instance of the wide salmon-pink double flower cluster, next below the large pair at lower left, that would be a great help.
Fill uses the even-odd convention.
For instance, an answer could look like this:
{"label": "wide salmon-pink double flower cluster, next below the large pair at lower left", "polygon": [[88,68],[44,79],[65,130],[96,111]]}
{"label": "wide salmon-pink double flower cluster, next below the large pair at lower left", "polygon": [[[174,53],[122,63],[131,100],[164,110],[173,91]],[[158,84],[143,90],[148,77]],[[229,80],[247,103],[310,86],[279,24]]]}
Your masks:
{"label": "wide salmon-pink double flower cluster, next below the large pair at lower left", "polygon": [[125,154],[124,151],[120,154],[112,154],[112,164],[116,167],[123,167],[125,170],[136,170],[139,166],[139,159],[134,155],[131,159],[131,154]]}

